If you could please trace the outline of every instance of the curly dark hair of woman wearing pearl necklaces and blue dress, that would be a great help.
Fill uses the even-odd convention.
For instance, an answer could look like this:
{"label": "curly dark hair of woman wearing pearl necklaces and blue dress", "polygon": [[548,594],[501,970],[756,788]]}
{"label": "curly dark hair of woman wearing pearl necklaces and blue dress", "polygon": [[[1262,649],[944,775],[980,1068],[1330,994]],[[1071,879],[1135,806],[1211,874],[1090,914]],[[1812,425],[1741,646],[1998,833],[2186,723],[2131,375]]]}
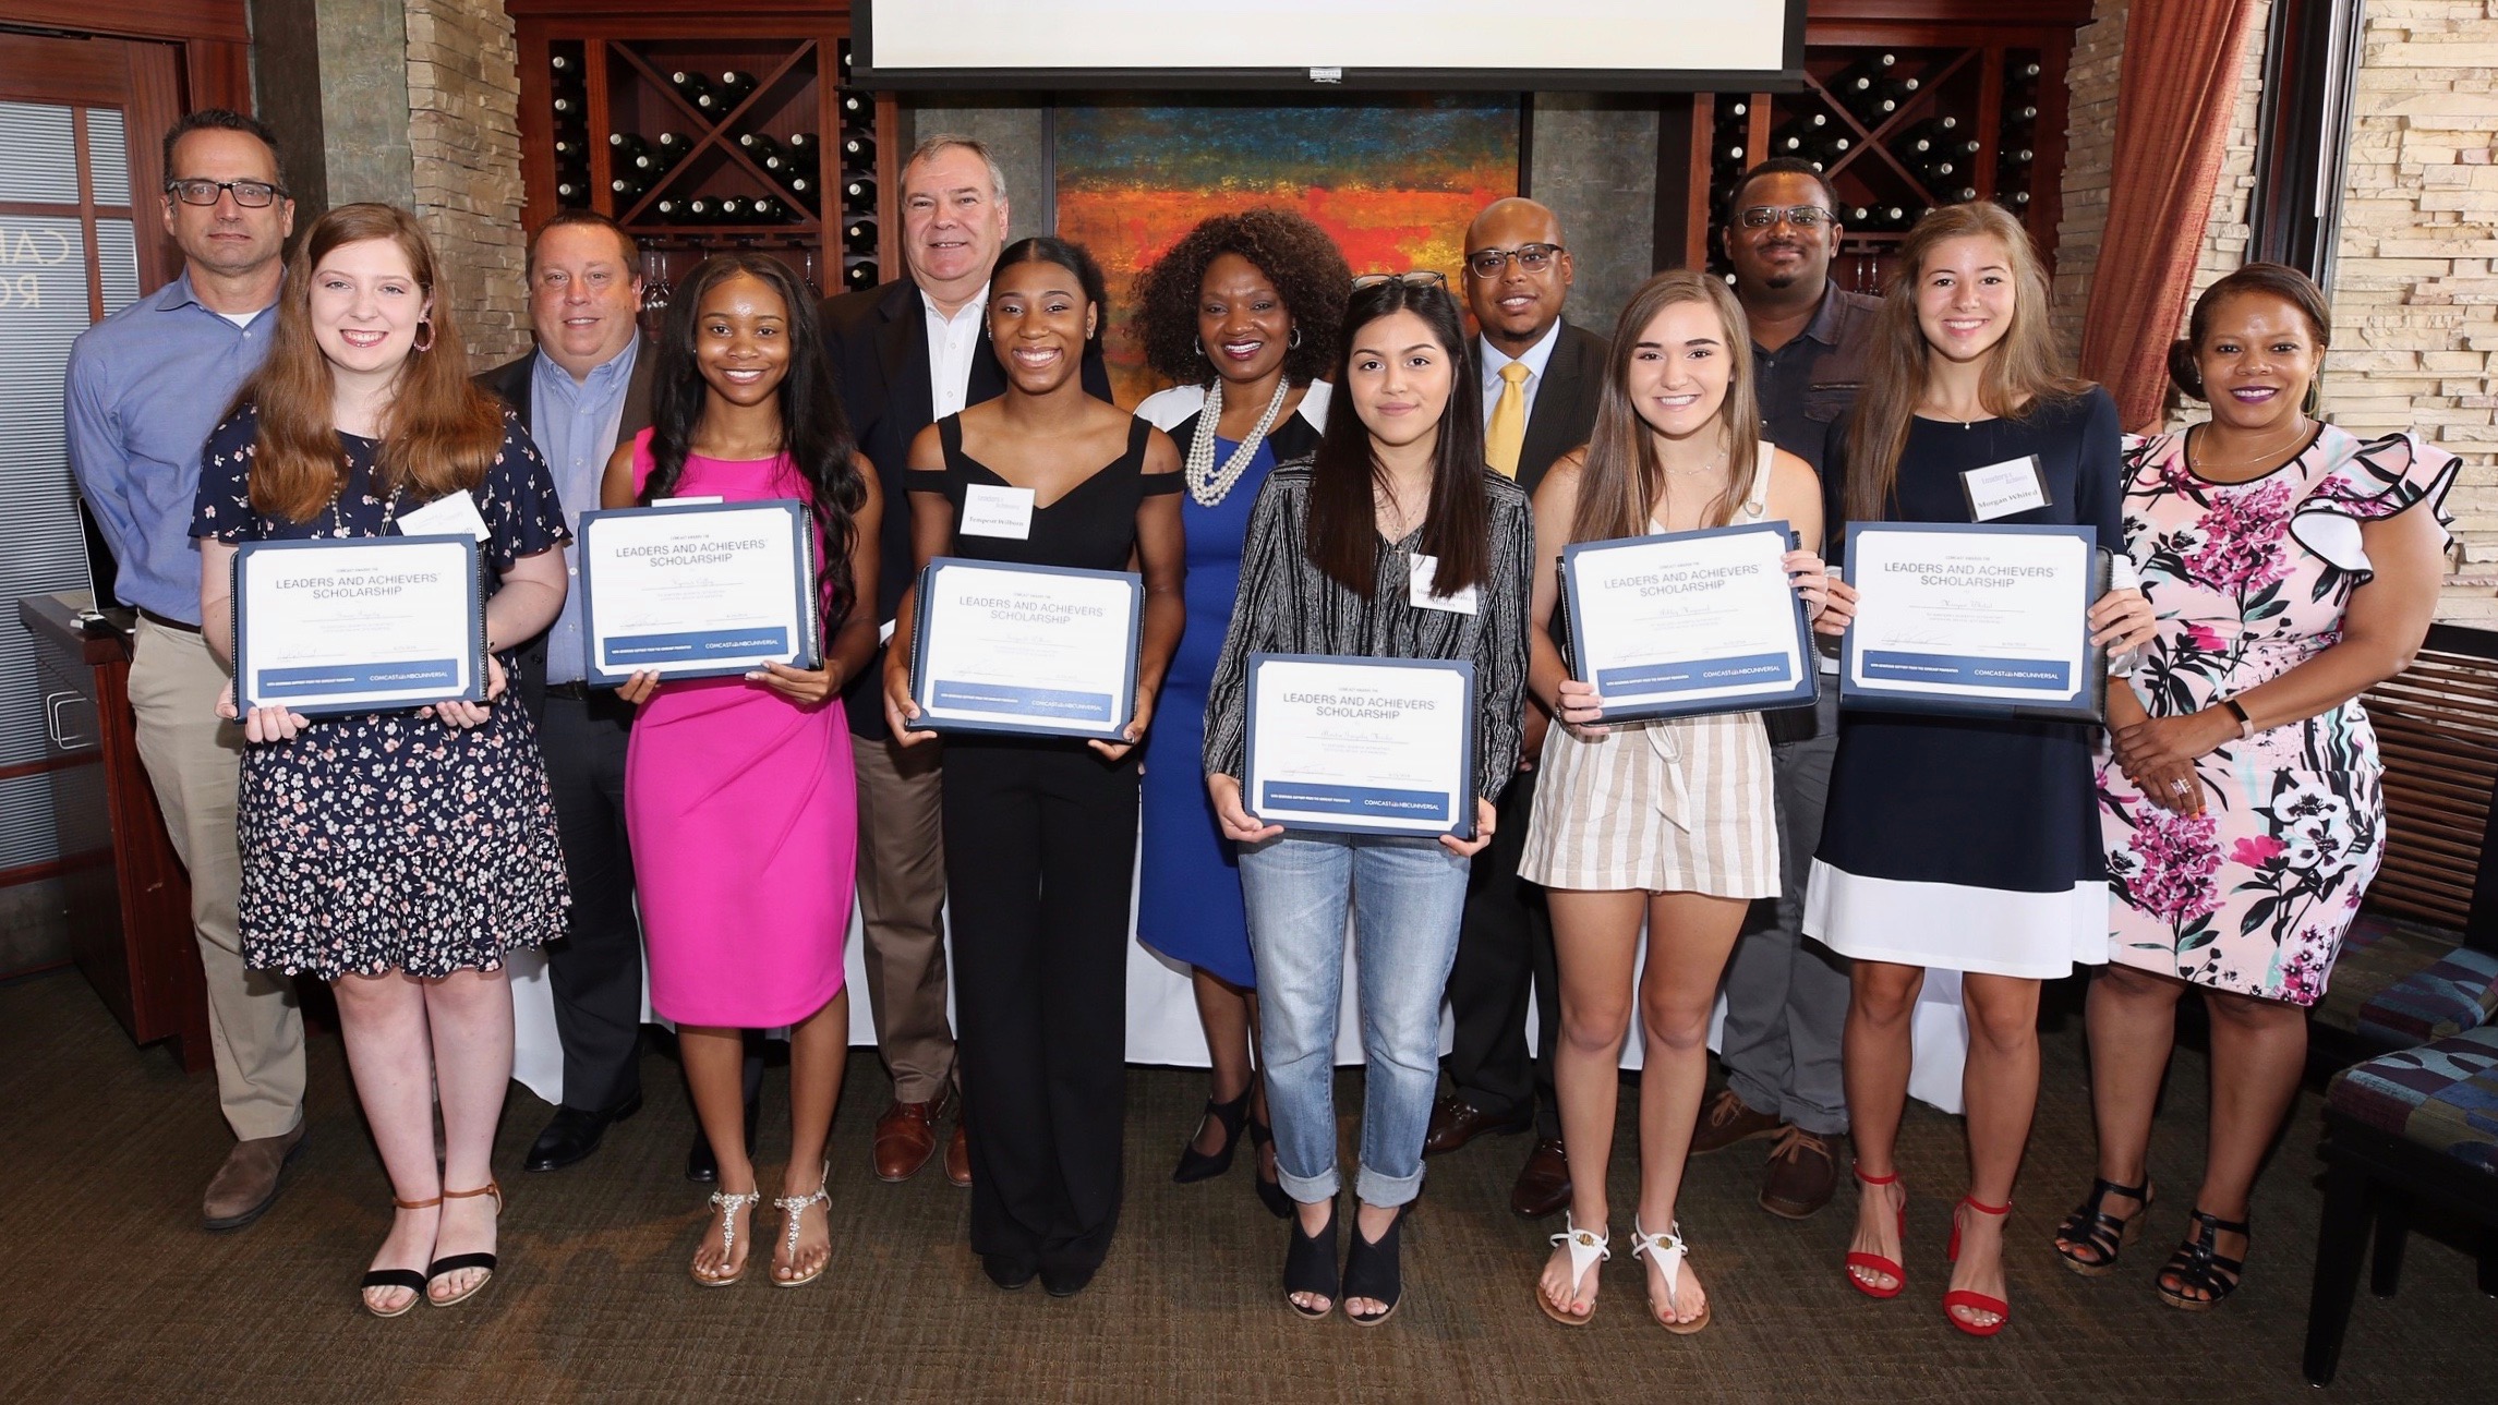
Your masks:
{"label": "curly dark hair of woman wearing pearl necklaces and blue dress", "polygon": [[1249,260],[1284,294],[1284,312],[1301,332],[1301,344],[1284,352],[1284,379],[1309,384],[1331,372],[1354,270],[1326,230],[1306,215],[1274,207],[1202,220],[1154,267],[1137,275],[1144,364],[1179,384],[1214,379],[1214,362],[1197,349],[1197,292],[1207,282],[1207,265],[1222,255]]}

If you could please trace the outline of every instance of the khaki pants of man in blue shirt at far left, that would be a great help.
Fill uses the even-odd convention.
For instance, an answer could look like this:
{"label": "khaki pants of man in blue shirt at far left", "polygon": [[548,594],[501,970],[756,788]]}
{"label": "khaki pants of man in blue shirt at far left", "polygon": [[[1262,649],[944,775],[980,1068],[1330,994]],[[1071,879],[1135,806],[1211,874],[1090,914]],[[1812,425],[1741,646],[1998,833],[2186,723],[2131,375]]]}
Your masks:
{"label": "khaki pants of man in blue shirt at far left", "polygon": [[305,1023],[295,988],[242,966],[235,893],[235,791],[242,726],[217,719],[225,669],[197,634],[140,616],[130,706],[140,761],[155,786],[172,851],[190,868],[190,923],[207,971],[207,1033],[217,1056],[217,1103],[242,1140],[285,1135],[305,1116]]}

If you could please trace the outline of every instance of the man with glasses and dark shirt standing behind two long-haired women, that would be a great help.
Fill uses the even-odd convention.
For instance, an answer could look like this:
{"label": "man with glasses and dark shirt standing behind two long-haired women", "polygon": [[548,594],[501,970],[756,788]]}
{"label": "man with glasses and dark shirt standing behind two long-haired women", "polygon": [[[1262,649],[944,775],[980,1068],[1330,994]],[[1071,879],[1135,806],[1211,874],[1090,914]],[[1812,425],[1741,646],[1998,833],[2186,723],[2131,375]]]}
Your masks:
{"label": "man with glasses and dark shirt standing behind two long-haired women", "polygon": [[[1726,220],[1734,294],[1751,322],[1761,434],[1824,472],[1831,424],[1856,402],[1881,302],[1831,284],[1836,197],[1794,157],[1751,167]],[[1824,484],[1829,489],[1829,484]],[[1836,502],[1831,492],[1824,494]],[[1846,524],[1829,522],[1829,537]],[[1829,547],[1811,544],[1829,557]],[[1804,941],[1804,883],[1821,843],[1821,804],[1839,751],[1839,676],[1824,661],[1821,706],[1766,714],[1779,811],[1779,901],[1759,903],[1726,963],[1726,1088],[1701,1106],[1691,1153],[1774,1135],[1761,1208],[1806,1218],[1839,1183],[1834,1138],[1849,1130],[1839,1033],[1849,1013],[1841,956]]]}

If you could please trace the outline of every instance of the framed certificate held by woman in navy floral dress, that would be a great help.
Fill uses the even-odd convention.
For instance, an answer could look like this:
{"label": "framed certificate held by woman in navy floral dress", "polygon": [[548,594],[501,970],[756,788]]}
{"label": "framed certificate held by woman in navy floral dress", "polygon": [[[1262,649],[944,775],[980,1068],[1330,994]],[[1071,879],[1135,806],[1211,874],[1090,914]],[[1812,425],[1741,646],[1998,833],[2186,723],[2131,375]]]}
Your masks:
{"label": "framed certificate held by woman in navy floral dress", "polygon": [[485,701],[475,537],[235,547],[235,706],[305,716]]}

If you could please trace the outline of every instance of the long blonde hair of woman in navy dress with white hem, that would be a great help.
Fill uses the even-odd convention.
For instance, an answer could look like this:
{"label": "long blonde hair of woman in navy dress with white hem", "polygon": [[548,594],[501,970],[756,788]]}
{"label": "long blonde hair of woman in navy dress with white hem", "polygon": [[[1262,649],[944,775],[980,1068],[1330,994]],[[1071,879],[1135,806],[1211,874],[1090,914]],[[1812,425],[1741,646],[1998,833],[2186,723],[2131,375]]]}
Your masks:
{"label": "long blonde hair of woman in navy dress with white hem", "polygon": [[1898,272],[1874,314],[1866,339],[1866,387],[1849,422],[1849,519],[1881,522],[1891,514],[1891,489],[1898,487],[1898,457],[1908,449],[1908,422],[1926,399],[1926,332],[1916,322],[1916,289],[1926,282],[1926,260],[1946,240],[1986,237],[2003,245],[2013,270],[2013,324],[1986,357],[1978,404],[2003,419],[2023,419],[2041,404],[2068,402],[2091,389],[2066,367],[2063,352],[2046,324],[2046,272],[2028,230],[1991,200],[1928,210],[1898,245]]}

